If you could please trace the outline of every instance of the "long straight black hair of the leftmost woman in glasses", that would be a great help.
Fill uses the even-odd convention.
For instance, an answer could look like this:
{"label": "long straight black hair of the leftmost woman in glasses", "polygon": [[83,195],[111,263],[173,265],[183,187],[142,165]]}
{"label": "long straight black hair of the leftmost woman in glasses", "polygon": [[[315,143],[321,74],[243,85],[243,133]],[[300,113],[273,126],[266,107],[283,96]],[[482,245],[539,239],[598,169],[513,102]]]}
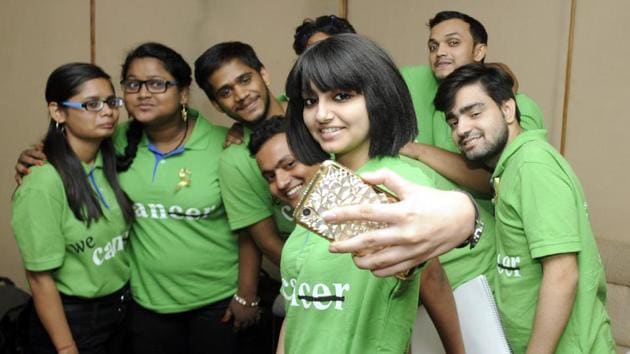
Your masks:
{"label": "long straight black hair of the leftmost woman in glasses", "polygon": [[[94,79],[110,81],[101,68],[87,63],[69,63],[55,69],[46,82],[46,102],[55,102],[61,109],[62,102],[76,95],[81,86]],[[111,85],[111,81],[110,81]],[[112,86],[113,90],[113,86]],[[133,221],[131,201],[120,188],[116,174],[116,153],[111,138],[103,139],[99,147],[103,157],[103,172],[111,186],[116,201],[127,223]],[[103,216],[101,205],[88,182],[81,160],[68,143],[65,132],[51,119],[44,138],[44,153],[50,164],[57,170],[63,182],[68,204],[74,216],[89,226]]]}

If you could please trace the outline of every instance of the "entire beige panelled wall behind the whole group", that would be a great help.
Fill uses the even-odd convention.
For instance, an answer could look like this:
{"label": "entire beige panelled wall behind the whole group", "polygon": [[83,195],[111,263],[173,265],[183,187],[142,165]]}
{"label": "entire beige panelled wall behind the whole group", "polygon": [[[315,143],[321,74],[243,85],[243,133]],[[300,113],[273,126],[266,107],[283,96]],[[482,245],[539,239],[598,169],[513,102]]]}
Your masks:
{"label": "entire beige panelled wall behind the whole group", "polygon": [[[337,0],[209,1],[96,0],[96,62],[119,78],[127,50],[153,40],[172,46],[192,64],[211,44],[241,40],[254,45],[272,76],[275,93],[295,56],[293,30],[306,16],[336,13]],[[24,146],[47,124],[43,87],[47,75],[68,61],[89,60],[89,2],[5,0],[0,2],[0,274],[23,284],[19,255],[10,231],[13,165]],[[489,61],[505,62],[519,76],[521,91],[545,115],[550,140],[559,146],[570,1],[349,0],[355,28],[384,46],[399,65],[425,64],[428,19],[455,9],[487,27]],[[579,1],[566,155],[582,179],[598,236],[627,240],[622,221],[630,158],[622,134],[630,57],[625,45],[630,5],[625,0]],[[228,120],[193,89],[194,106],[212,120]]]}

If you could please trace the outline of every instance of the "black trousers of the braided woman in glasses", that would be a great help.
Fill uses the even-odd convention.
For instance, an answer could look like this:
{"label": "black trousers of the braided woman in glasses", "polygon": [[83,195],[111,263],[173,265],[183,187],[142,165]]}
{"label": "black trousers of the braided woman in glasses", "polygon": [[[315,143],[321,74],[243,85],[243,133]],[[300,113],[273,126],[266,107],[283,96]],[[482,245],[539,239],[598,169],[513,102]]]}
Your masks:
{"label": "black trousers of the braided woman in glasses", "polygon": [[157,313],[132,302],[129,335],[133,353],[257,353],[251,345],[256,328],[236,333],[232,321],[221,322],[230,300],[172,314]]}

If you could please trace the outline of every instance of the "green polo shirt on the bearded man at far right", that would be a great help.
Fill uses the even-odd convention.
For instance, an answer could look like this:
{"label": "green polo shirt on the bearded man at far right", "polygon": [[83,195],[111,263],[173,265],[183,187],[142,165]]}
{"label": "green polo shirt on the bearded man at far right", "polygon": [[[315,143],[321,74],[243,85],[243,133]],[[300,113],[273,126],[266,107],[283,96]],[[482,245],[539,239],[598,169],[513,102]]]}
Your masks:
{"label": "green polo shirt on the bearded man at far right", "polygon": [[576,253],[575,303],[557,353],[614,353],[606,312],[604,269],[575,173],[545,139],[521,133],[501,154],[493,174],[496,197],[495,292],[515,353],[529,341],[543,271],[541,258]]}

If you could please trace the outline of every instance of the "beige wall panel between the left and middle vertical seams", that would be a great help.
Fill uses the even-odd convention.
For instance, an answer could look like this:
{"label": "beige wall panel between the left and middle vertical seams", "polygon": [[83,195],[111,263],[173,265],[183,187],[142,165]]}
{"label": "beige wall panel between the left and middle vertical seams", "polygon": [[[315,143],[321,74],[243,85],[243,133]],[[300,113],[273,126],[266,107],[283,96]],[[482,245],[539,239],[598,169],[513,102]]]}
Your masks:
{"label": "beige wall panel between the left and middle vertical seams", "polygon": [[[193,66],[211,45],[241,41],[251,44],[267,67],[274,93],[284,91],[284,79],[295,60],[291,49],[295,27],[305,17],[338,9],[337,0],[142,0],[132,7],[122,0],[96,2],[96,62],[113,75],[115,82],[120,81],[120,65],[126,52],[142,42],[167,44]],[[125,11],[121,11],[123,8]],[[231,124],[217,114],[196,85],[192,106],[214,121]]]}

